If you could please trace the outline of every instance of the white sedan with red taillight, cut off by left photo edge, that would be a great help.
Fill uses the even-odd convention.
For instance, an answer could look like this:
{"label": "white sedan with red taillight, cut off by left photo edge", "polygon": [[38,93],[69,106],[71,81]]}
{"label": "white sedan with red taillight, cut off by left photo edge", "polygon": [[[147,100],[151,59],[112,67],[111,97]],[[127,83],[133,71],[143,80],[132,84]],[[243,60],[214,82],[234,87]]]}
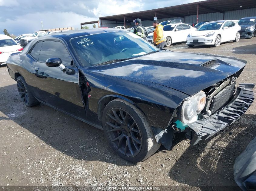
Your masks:
{"label": "white sedan with red taillight, cut off by left photo edge", "polygon": [[11,37],[0,34],[0,65],[4,64],[10,54],[20,52],[23,48]]}

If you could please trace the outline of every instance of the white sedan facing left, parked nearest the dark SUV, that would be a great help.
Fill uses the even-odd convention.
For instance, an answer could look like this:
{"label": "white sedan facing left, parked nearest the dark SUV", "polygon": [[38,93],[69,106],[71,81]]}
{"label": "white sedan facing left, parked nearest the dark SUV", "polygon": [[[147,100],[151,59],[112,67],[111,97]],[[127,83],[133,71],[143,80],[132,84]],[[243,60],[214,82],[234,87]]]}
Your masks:
{"label": "white sedan facing left, parked nearest the dark SUV", "polygon": [[212,21],[202,24],[198,29],[188,34],[186,44],[220,46],[221,43],[231,41],[238,42],[241,27],[233,21]]}

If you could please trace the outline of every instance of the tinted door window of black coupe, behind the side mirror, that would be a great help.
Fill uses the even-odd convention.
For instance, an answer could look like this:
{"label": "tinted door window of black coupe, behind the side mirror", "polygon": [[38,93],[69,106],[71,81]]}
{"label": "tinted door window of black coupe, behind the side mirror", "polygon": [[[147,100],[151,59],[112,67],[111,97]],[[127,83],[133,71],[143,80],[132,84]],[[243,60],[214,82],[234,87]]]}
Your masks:
{"label": "tinted door window of black coupe, behind the side mirror", "polygon": [[61,42],[56,41],[44,41],[42,45],[38,60],[45,62],[49,58],[60,58],[62,64],[69,66],[72,61],[65,46]]}

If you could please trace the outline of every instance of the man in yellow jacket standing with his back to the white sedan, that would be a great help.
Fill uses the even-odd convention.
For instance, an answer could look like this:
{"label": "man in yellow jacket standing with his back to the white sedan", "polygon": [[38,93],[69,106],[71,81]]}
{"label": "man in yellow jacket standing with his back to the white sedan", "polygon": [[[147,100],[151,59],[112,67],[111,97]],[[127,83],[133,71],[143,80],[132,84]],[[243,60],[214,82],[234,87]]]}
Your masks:
{"label": "man in yellow jacket standing with his back to the white sedan", "polygon": [[164,27],[159,24],[158,20],[153,21],[153,27],[155,27],[153,42],[156,47],[163,49],[165,46]]}

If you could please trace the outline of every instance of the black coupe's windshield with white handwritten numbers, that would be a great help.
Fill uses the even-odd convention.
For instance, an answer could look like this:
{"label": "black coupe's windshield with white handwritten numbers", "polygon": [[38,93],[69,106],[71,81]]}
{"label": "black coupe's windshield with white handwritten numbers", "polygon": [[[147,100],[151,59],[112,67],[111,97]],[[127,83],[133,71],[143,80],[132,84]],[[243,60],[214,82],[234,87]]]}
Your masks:
{"label": "black coupe's windshield with white handwritten numbers", "polygon": [[159,51],[151,43],[130,32],[108,32],[70,40],[84,66],[94,66],[116,59],[130,59]]}

